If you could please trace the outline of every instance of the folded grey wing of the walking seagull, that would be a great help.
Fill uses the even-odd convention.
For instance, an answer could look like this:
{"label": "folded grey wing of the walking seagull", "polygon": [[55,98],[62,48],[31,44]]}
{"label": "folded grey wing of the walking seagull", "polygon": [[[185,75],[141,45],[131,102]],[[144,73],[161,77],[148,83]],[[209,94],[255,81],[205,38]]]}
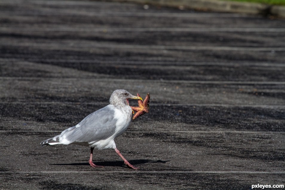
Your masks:
{"label": "folded grey wing of the walking seagull", "polygon": [[107,105],[85,117],[76,126],[62,131],[62,140],[72,144],[107,139],[115,133],[117,119],[114,114],[113,106]]}

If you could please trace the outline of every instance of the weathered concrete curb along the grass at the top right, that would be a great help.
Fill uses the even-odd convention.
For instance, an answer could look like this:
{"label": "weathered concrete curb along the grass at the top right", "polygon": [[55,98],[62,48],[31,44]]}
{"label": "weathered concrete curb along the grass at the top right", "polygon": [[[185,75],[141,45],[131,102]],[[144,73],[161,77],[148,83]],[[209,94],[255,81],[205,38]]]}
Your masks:
{"label": "weathered concrete curb along the grass at the top right", "polygon": [[285,18],[285,6],[271,6],[261,3],[247,3],[222,0],[111,0],[119,2],[135,2],[168,7],[184,7],[188,9],[226,12],[247,13],[259,15],[274,15]]}

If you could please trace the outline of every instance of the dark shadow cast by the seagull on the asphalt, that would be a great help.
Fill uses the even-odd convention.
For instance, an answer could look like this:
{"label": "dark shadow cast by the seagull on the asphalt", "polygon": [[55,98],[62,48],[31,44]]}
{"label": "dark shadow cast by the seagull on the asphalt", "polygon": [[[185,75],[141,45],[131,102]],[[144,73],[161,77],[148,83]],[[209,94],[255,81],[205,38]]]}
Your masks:
{"label": "dark shadow cast by the seagull on the asphalt", "polygon": [[[129,160],[131,164],[137,165],[137,164],[150,164],[150,163],[166,163],[170,160]],[[103,162],[94,162],[94,164],[98,166],[125,166],[124,161],[103,161]],[[65,164],[49,164],[49,165],[57,165],[57,166],[89,166],[88,161],[85,163],[65,163]]]}

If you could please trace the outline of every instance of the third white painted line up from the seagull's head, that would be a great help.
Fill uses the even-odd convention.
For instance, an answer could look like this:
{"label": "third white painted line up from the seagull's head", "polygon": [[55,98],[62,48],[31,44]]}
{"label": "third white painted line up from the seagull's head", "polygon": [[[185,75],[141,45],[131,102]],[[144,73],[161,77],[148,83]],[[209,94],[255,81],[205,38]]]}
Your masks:
{"label": "third white painted line up from the seagull's head", "polygon": [[16,47],[41,47],[43,49],[61,49],[64,47],[72,47],[75,49],[84,48],[109,48],[109,49],[146,49],[146,50],[196,50],[196,51],[285,51],[285,47],[230,47],[230,46],[173,46],[173,45],[131,45],[131,44],[106,44],[106,43],[85,43],[84,45],[78,43],[71,43],[67,41],[58,43],[33,43],[33,42],[19,42],[9,43],[1,42],[3,46]]}

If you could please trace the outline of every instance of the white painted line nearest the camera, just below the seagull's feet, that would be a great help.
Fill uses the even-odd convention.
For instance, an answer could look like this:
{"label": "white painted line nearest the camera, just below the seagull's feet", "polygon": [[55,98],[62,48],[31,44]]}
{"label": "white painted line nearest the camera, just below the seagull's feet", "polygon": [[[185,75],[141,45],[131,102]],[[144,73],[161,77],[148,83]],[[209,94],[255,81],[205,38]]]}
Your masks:
{"label": "white painted line nearest the camera, just below the seagull's feet", "polygon": [[[11,172],[3,172],[3,173],[11,173]],[[14,172],[15,173],[15,172]],[[24,174],[135,174],[135,173],[143,173],[143,174],[285,174],[285,171],[140,171],[140,170],[126,170],[126,171],[18,171],[17,173]]]}

